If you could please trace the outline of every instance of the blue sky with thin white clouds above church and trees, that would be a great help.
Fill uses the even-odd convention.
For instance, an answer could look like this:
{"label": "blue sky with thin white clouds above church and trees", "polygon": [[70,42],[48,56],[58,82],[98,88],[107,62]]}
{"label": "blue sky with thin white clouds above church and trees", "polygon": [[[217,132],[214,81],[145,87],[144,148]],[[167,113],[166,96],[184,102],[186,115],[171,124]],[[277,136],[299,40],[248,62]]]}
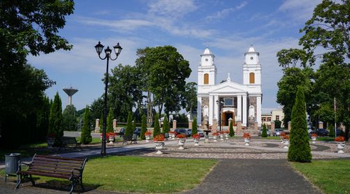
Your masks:
{"label": "blue sky with thin white clouds above church and trees", "polygon": [[73,96],[77,109],[90,105],[103,94],[101,79],[106,60],[99,60],[94,45],[123,47],[117,64],[135,63],[136,50],[146,46],[172,45],[190,62],[188,82],[197,82],[197,67],[206,45],[215,54],[217,80],[227,78],[242,84],[244,53],[250,44],[260,52],[263,108],[278,107],[277,82],[281,79],[276,53],[299,47],[299,29],[310,19],[321,0],[129,0],[75,1],[74,14],[60,35],[74,45],[71,51],[28,57],[57,84],[47,89],[53,98],[58,91],[67,105],[64,87],[79,91]]}

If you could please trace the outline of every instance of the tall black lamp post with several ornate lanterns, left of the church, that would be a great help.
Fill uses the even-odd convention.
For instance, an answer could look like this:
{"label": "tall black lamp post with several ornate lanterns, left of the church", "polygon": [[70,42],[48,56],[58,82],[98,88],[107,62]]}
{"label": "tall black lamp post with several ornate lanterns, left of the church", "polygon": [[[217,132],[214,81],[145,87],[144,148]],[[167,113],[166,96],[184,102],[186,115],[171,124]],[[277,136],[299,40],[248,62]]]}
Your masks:
{"label": "tall black lamp post with several ornate lanterns, left of the church", "polygon": [[113,59],[110,56],[110,53],[112,53],[112,50],[107,46],[107,48],[104,50],[105,51],[105,57],[101,58],[101,53],[103,50],[103,45],[101,42],[99,44],[96,44],[96,52],[99,55],[99,58],[101,60],[107,60],[107,67],[106,67],[106,80],[105,80],[105,95],[104,95],[104,112],[103,112],[103,128],[102,128],[102,148],[101,148],[101,155],[106,155],[106,127],[107,127],[107,90],[108,90],[108,62],[109,60],[117,60],[120,52],[122,51],[122,46],[119,45],[119,42],[117,45],[113,46],[115,50],[115,58]]}

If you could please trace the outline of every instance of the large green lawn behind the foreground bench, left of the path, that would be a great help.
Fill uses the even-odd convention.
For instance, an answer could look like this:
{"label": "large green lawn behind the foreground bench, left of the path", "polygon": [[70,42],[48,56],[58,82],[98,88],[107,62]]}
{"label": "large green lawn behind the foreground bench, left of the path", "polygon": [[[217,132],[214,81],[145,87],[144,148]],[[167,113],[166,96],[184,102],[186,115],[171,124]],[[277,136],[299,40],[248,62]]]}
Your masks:
{"label": "large green lawn behind the foreground bench, left of the path", "polygon": [[[94,158],[89,159],[85,166],[83,182],[85,186],[106,191],[176,193],[200,184],[216,164],[216,159],[133,156]],[[49,177],[40,177],[36,182],[47,182],[56,186],[69,184],[63,179]]]}

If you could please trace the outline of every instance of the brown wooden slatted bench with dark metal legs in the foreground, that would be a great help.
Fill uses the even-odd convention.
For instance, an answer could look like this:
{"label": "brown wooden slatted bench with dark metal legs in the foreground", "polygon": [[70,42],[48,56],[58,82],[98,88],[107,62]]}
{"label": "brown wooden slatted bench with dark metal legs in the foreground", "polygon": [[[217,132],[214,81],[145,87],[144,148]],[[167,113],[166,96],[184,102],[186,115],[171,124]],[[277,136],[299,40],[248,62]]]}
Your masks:
{"label": "brown wooden slatted bench with dark metal legs in the foreground", "polygon": [[[30,179],[34,186],[35,182],[32,175],[38,175],[68,179],[70,182],[72,182],[72,188],[69,193],[72,193],[74,186],[79,183],[81,185],[81,189],[84,191],[83,170],[86,161],[88,161],[88,159],[74,159],[35,154],[30,163],[21,162],[19,164],[17,170],[16,188],[19,188],[19,185],[22,183],[23,179]],[[28,170],[22,170],[22,165],[28,166]]]}

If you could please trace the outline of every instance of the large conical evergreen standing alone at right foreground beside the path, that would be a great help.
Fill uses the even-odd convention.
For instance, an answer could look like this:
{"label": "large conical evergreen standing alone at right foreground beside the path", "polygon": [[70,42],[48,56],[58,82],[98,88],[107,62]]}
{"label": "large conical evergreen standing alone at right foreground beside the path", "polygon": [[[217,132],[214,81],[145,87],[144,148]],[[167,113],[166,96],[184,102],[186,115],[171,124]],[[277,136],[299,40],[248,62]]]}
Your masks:
{"label": "large conical evergreen standing alone at right foreground beside the path", "polygon": [[288,161],[310,162],[312,159],[306,122],[306,103],[303,89],[298,87],[292,109],[292,129]]}

